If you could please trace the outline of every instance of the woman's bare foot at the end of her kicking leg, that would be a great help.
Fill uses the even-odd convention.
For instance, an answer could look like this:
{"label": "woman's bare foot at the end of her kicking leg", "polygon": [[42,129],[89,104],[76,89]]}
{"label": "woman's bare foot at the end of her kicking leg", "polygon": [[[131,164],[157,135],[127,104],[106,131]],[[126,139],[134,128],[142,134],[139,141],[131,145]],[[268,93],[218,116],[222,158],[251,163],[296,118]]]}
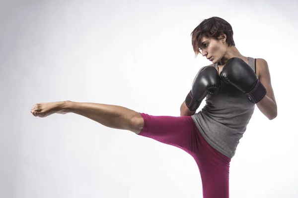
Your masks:
{"label": "woman's bare foot at the end of her kicking leg", "polygon": [[67,101],[37,103],[32,107],[30,112],[35,117],[47,117],[53,113],[66,114],[68,113],[67,109],[65,108],[66,103]]}

